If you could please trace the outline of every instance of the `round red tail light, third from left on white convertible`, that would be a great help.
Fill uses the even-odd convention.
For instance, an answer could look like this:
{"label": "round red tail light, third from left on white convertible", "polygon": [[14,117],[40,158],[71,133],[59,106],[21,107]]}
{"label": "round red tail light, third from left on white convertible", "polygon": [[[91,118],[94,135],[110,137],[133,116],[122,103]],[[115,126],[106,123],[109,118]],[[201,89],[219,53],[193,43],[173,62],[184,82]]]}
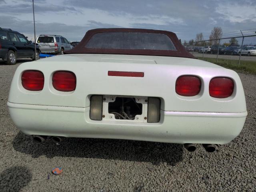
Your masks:
{"label": "round red tail light, third from left on white convertible", "polygon": [[201,80],[196,76],[180,76],[176,80],[175,90],[181,96],[195,96],[200,92]]}

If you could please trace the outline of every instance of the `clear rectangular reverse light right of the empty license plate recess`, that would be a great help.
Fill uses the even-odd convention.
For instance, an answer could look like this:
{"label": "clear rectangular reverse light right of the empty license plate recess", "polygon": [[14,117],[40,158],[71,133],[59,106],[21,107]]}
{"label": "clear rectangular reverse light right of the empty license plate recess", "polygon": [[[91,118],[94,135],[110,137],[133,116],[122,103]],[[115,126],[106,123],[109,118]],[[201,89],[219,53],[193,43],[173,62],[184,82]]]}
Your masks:
{"label": "clear rectangular reverse light right of the empty license plate recess", "polygon": [[148,123],[157,123],[160,121],[160,99],[148,98]]}

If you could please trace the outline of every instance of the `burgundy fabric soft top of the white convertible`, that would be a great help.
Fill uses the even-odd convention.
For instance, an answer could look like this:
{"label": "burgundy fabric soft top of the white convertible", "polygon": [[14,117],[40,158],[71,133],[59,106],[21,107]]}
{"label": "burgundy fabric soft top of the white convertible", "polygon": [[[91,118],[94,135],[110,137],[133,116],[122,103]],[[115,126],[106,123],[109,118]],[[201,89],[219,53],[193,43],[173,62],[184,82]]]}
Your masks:
{"label": "burgundy fabric soft top of the white convertible", "polygon": [[[101,34],[108,34],[102,35],[106,42],[100,42],[100,33]],[[109,38],[109,34],[112,33],[113,37],[114,34],[121,34],[123,36],[118,35],[118,40],[114,39],[115,42],[111,41]],[[130,34],[133,36],[131,36]],[[141,48],[137,41],[140,41],[140,34],[147,34],[145,37],[143,36],[143,40],[150,41],[154,43],[156,46],[150,47],[149,45],[145,45],[145,47]],[[166,38],[159,38],[160,42],[158,41],[158,36],[168,37]],[[154,38],[154,35],[157,38]],[[154,38],[152,40],[152,38]],[[125,39],[126,38],[126,39]],[[119,45],[118,42],[125,39],[125,45]],[[134,40],[135,48],[128,48],[126,43],[128,44],[130,40]],[[98,40],[98,42],[97,42]],[[125,41],[124,40],[124,41]],[[168,41],[168,42],[167,42]],[[167,44],[169,43],[170,44]],[[113,42],[113,44],[112,44]],[[167,45],[164,46],[163,44],[166,43]],[[105,44],[104,44],[105,43]],[[142,42],[143,43],[143,42]],[[95,45],[96,44],[96,45]],[[95,45],[95,46],[94,46]],[[157,48],[160,47],[160,49]],[[156,47],[156,49],[154,49]],[[167,48],[166,48],[167,47]],[[134,28],[100,28],[100,29],[92,29],[88,30],[82,39],[82,41],[74,47],[72,50],[68,50],[64,52],[65,54],[88,54],[88,53],[95,53],[95,54],[124,54],[124,55],[153,55],[153,56],[173,56],[173,57],[185,57],[185,58],[195,58],[192,54],[190,54],[180,43],[177,36],[173,32],[163,31],[163,30],[151,30],[151,29],[134,29]]]}

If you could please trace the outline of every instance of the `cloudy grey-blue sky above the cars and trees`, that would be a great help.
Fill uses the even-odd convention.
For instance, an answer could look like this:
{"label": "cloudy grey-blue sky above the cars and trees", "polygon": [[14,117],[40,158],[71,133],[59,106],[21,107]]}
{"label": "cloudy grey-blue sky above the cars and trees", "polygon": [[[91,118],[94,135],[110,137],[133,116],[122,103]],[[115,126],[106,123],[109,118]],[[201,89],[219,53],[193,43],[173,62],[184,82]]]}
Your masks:
{"label": "cloudy grey-blue sky above the cars and trees", "polygon": [[[93,28],[149,28],[190,40],[214,26],[224,33],[256,28],[256,0],[34,0],[36,35],[80,41]],[[32,0],[0,0],[0,27],[33,38]]]}

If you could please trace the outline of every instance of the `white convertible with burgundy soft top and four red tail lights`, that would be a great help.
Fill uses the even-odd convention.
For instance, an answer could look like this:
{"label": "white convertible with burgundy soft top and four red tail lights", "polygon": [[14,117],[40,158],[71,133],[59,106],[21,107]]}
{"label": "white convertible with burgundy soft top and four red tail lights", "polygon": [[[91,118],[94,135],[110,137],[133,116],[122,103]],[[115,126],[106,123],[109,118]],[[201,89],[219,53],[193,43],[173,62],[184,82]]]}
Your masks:
{"label": "white convertible with burgundy soft top and four red tail lights", "polygon": [[145,29],[89,30],[64,55],[21,64],[8,108],[25,134],[172,142],[208,152],[244,126],[238,74],[198,60],[176,34]]}

